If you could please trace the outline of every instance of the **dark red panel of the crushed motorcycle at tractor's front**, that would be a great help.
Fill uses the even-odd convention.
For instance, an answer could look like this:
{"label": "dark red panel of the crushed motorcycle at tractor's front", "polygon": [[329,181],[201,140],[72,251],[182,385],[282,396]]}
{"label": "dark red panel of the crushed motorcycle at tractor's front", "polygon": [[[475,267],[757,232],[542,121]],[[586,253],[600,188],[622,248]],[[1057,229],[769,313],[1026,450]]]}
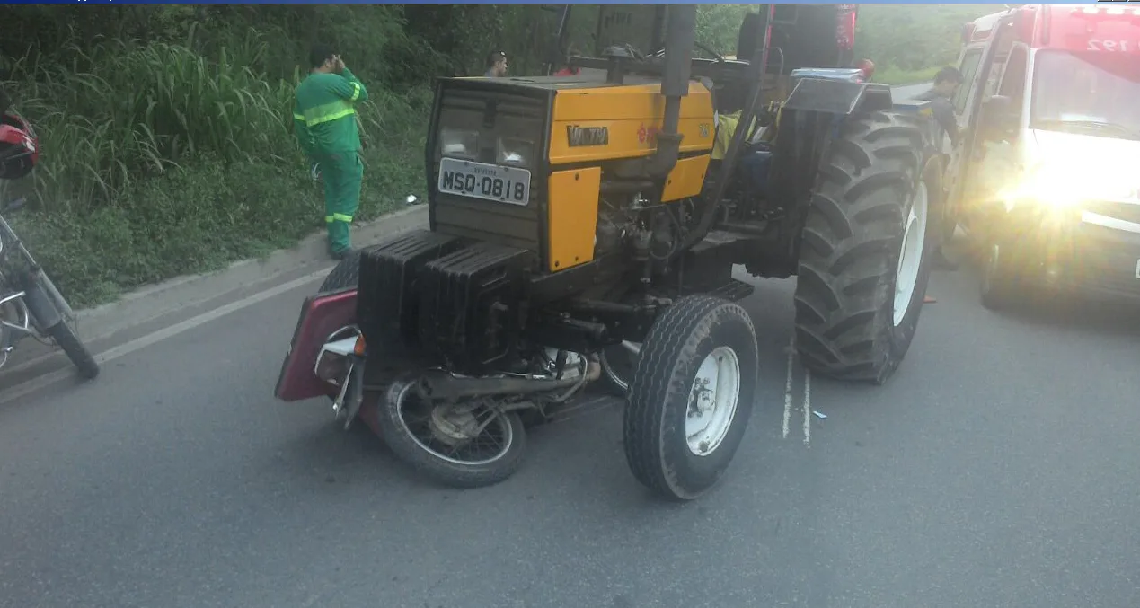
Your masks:
{"label": "dark red panel of the crushed motorcycle at tractor's front", "polygon": [[328,337],[341,327],[356,323],[357,290],[317,293],[304,299],[301,316],[293,330],[293,340],[277,378],[276,397],[283,402],[300,402],[335,395],[337,388],[314,372],[317,355]]}

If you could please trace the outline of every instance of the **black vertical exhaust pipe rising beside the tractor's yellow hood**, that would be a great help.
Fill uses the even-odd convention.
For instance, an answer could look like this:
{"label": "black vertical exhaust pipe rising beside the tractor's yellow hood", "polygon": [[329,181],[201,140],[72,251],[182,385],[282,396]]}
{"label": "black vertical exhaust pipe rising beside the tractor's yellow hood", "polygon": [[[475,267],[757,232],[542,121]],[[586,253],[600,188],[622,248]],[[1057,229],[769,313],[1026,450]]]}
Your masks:
{"label": "black vertical exhaust pipe rising beside the tractor's yellow hood", "polygon": [[697,29],[697,5],[674,5],[665,33],[665,72],[661,96],[665,117],[657,133],[657,152],[645,167],[651,178],[663,179],[673,171],[681,154],[681,98],[689,95],[689,76],[693,60],[693,35]]}

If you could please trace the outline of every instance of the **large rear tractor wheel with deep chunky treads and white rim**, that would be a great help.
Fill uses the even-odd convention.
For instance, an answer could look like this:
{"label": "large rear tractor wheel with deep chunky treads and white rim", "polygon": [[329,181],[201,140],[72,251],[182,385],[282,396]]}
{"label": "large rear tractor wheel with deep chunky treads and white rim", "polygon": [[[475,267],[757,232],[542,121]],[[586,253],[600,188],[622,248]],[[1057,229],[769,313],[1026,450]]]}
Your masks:
{"label": "large rear tractor wheel with deep chunky treads and white rim", "polygon": [[841,380],[886,382],[914,338],[940,203],[919,119],[852,116],[812,192],[796,285],[804,364]]}

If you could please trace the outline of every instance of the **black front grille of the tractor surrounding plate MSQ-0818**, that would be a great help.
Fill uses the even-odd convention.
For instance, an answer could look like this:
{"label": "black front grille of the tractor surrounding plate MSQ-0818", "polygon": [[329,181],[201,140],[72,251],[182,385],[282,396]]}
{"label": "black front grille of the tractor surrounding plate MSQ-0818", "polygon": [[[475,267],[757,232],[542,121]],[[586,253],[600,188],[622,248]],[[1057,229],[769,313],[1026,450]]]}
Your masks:
{"label": "black front grille of the tractor surrounding plate MSQ-0818", "polygon": [[435,132],[442,128],[479,132],[477,162],[495,164],[496,141],[510,137],[532,141],[530,203],[527,206],[471,198],[437,190],[440,152],[431,151],[429,188],[433,203],[434,230],[503,246],[540,251],[542,210],[546,208],[545,156],[547,100],[504,90],[464,88],[447,83],[440,99]]}

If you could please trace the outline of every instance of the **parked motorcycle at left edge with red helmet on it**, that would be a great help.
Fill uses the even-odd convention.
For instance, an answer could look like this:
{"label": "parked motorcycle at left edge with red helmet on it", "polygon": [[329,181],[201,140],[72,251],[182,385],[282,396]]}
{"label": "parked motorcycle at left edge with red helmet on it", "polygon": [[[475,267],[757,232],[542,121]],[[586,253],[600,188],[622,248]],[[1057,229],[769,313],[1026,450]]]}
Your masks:
{"label": "parked motorcycle at left edge with red helmet on it", "polygon": [[[39,160],[32,125],[15,114],[0,114],[0,179],[18,179]],[[99,375],[99,365],[75,335],[75,313],[13,230],[5,214],[24,205],[19,198],[0,209],[0,367],[25,338],[54,341],[84,379]]]}

